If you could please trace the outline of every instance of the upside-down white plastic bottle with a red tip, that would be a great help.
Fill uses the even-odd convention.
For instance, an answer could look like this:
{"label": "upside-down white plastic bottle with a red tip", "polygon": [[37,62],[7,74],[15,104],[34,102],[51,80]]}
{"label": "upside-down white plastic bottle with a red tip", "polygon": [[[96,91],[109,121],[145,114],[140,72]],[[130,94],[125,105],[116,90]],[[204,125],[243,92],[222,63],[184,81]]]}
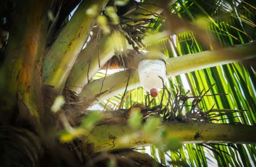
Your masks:
{"label": "upside-down white plastic bottle with a red tip", "polygon": [[162,59],[144,59],[138,64],[139,79],[142,87],[150,92],[152,97],[156,97],[158,91],[163,87],[163,81],[166,80],[166,67]]}

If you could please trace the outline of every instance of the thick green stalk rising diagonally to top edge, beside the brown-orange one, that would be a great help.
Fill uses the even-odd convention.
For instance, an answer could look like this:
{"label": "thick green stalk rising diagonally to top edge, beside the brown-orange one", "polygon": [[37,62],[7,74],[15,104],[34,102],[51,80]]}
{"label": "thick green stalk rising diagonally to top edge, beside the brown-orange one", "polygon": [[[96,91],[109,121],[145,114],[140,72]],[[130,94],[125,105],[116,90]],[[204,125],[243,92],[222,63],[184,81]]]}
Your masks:
{"label": "thick green stalk rising diagonally to top edge, beside the brown-orange one", "polygon": [[107,2],[108,0],[83,0],[79,5],[44,58],[43,76],[46,85],[62,91],[69,72],[95,24],[96,16],[88,15],[86,11],[96,5],[96,13],[100,14]]}

